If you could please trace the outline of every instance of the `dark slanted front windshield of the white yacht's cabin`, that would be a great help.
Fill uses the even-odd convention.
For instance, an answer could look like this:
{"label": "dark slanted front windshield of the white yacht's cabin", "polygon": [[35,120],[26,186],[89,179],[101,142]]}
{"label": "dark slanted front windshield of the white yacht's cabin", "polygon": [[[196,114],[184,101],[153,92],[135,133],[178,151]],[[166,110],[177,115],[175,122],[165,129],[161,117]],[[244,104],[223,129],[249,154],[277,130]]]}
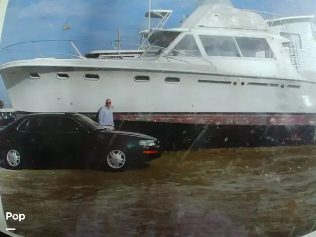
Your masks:
{"label": "dark slanted front windshield of the white yacht's cabin", "polygon": [[148,47],[141,57],[159,55],[162,50],[167,48],[181,33],[182,32],[161,31],[154,34],[152,36],[153,38],[151,40],[150,47]]}

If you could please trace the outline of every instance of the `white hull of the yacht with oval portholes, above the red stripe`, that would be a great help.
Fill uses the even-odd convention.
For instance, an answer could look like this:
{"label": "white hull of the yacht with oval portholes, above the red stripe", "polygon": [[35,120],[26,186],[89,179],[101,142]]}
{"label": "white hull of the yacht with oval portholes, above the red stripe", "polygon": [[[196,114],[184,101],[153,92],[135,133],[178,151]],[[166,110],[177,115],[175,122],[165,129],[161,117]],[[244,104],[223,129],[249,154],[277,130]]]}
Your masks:
{"label": "white hull of the yacht with oval portholes, above the red stripe", "polygon": [[[87,67],[86,60],[98,65]],[[41,65],[36,61],[0,68],[15,110],[95,113],[110,98],[117,113],[316,113],[316,83],[307,80],[220,75],[203,71],[206,66],[189,64],[179,64],[182,68],[177,72],[168,70],[170,63],[140,60],[79,59],[84,67],[79,63],[68,67],[67,60],[47,59]],[[40,79],[30,79],[30,72],[39,73]],[[69,79],[57,79],[60,72]],[[89,73],[100,79],[84,79]],[[135,76],[148,76],[150,81],[136,82]],[[166,83],[167,77],[180,82]]]}

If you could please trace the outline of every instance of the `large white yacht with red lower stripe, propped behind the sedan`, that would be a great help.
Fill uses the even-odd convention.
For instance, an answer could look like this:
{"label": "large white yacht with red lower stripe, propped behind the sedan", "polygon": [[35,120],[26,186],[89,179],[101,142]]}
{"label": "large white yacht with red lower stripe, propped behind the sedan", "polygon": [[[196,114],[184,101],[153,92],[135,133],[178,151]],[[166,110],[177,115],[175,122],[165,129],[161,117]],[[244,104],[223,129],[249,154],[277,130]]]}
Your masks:
{"label": "large white yacht with red lower stripe, propped behind the sedan", "polygon": [[111,98],[116,118],[134,121],[295,125],[303,118],[287,116],[316,113],[316,84],[293,67],[289,40],[230,0],[200,0],[149,42],[138,59],[37,58],[0,74],[23,112],[96,113]]}

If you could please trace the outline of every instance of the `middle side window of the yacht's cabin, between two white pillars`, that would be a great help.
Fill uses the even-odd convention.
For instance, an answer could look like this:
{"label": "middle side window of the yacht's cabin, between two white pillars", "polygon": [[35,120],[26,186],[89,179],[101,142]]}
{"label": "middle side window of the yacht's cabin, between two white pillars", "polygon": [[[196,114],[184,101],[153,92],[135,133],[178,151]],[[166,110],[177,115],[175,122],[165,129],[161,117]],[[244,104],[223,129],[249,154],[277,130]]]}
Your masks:
{"label": "middle side window of the yacht's cabin, between two white pillars", "polygon": [[208,56],[240,57],[233,37],[199,35],[199,39]]}

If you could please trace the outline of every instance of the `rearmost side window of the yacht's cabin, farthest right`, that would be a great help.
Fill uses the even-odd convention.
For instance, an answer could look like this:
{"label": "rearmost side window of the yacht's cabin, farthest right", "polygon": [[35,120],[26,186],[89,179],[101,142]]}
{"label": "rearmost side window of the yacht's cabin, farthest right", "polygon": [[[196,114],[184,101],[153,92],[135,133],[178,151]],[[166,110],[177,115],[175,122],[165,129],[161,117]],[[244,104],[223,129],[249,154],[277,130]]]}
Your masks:
{"label": "rearmost side window of the yacht's cabin, farthest right", "polygon": [[235,37],[238,47],[245,58],[276,59],[269,43],[264,38]]}

